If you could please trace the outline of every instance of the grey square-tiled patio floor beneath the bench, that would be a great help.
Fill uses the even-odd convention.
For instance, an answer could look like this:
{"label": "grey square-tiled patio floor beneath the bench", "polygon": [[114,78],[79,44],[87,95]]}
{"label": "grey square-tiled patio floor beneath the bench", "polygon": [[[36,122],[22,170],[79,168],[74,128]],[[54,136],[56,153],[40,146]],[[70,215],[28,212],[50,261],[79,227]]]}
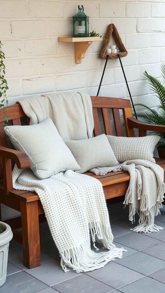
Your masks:
{"label": "grey square-tiled patio floor beneath the bench", "polygon": [[[47,223],[40,225],[42,265],[27,269],[23,265],[22,245],[11,240],[7,278],[0,293],[164,293],[165,229],[159,233],[136,233],[122,203],[108,207],[114,243],[124,247],[121,259],[87,273],[72,269],[63,272],[57,248]],[[136,217],[138,221],[138,216]],[[165,205],[155,223],[165,228]],[[102,248],[100,246],[100,250]]]}

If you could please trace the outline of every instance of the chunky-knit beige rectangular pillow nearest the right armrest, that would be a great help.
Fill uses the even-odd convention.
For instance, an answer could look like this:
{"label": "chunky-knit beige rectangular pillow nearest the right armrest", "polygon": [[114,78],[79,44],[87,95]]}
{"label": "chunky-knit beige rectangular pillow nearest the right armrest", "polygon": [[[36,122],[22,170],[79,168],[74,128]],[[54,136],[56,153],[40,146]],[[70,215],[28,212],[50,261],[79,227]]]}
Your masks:
{"label": "chunky-knit beige rectangular pillow nearest the right armrest", "polygon": [[117,137],[107,135],[107,138],[119,163],[136,159],[148,160],[155,163],[153,151],[160,139],[158,135],[144,137]]}

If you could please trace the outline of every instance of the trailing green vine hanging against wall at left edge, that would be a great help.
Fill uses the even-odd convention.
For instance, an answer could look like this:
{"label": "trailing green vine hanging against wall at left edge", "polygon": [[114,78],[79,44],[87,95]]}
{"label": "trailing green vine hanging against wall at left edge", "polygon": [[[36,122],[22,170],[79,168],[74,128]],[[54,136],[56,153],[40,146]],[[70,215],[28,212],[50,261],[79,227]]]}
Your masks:
{"label": "trailing green vine hanging against wall at left edge", "polygon": [[[6,98],[6,91],[8,90],[7,81],[4,78],[5,76],[5,65],[4,65],[4,59],[5,54],[1,50],[1,45],[3,45],[0,41],[0,108],[8,105],[8,100]],[[7,113],[4,109],[3,112],[4,119],[8,122]]]}

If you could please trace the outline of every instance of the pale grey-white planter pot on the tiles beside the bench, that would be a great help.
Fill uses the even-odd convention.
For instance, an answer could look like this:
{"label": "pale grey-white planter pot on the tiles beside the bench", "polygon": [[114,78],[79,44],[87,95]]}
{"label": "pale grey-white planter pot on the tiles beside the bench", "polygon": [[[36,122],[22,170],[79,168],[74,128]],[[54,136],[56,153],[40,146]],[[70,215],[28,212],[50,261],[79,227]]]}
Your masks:
{"label": "pale grey-white planter pot on the tiles beside the bench", "polygon": [[0,222],[0,226],[5,228],[5,231],[0,234],[0,287],[6,281],[7,260],[9,251],[9,241],[13,238],[13,233],[8,224]]}

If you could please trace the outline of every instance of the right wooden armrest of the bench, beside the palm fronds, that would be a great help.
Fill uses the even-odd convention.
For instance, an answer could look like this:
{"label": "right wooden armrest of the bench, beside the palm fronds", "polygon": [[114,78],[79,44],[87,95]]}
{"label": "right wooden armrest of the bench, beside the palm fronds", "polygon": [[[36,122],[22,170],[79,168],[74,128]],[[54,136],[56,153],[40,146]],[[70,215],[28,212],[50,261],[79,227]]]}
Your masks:
{"label": "right wooden armrest of the bench, beside the palm fronds", "polygon": [[127,118],[128,126],[139,129],[139,136],[145,136],[147,130],[165,132],[165,125],[149,124],[134,117]]}

